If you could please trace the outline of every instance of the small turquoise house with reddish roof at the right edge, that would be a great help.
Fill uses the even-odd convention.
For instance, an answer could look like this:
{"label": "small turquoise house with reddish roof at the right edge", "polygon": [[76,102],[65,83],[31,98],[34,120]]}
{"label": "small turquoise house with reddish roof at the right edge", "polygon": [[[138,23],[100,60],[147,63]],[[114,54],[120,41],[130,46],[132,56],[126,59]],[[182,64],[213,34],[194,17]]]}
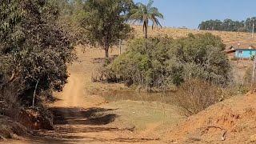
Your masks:
{"label": "small turquoise house with reddish roof at the right edge", "polygon": [[[247,47],[247,48],[246,48]],[[249,46],[239,46],[235,48],[234,46],[228,47],[224,50],[230,59],[232,58],[241,58],[241,59],[249,59],[252,58],[256,54],[256,47]]]}

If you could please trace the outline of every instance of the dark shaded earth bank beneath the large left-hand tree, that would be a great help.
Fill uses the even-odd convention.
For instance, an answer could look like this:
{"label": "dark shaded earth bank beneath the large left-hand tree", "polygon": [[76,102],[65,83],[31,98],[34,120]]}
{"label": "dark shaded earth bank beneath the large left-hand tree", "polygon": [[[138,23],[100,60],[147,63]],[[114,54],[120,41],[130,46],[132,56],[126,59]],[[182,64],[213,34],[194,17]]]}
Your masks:
{"label": "dark shaded earth bank beneath the large left-hand tree", "polygon": [[6,110],[7,115],[0,114],[0,141],[10,138],[26,138],[33,135],[32,130],[54,129],[50,119],[37,110],[21,109],[13,115],[10,115],[10,111]]}

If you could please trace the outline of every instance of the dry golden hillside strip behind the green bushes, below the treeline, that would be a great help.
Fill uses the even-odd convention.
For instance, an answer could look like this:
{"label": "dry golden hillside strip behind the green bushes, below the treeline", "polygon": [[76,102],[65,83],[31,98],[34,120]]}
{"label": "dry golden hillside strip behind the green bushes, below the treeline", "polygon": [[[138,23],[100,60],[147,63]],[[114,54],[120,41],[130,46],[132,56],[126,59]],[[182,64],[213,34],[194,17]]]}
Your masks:
{"label": "dry golden hillside strip behind the green bushes, below the treeline", "polygon": [[[135,31],[135,37],[142,37],[143,31],[142,26],[133,26]],[[256,35],[254,38],[251,38],[250,33],[245,32],[229,32],[229,31],[210,31],[210,30],[190,30],[190,29],[178,29],[178,28],[168,28],[168,27],[162,27],[162,28],[154,28],[154,30],[151,29],[151,27],[148,30],[148,34],[151,37],[154,36],[170,36],[172,38],[183,38],[186,37],[187,34],[204,34],[204,33],[212,33],[214,35],[218,35],[222,38],[223,42],[227,46],[237,46],[238,42],[242,45],[256,45]]]}

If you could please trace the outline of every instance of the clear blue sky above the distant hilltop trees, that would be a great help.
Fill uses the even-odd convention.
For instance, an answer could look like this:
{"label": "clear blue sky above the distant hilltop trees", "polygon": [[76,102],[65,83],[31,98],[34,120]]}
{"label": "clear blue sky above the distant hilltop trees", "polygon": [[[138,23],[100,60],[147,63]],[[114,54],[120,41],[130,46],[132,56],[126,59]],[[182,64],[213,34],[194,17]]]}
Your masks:
{"label": "clear blue sky above the distant hilltop trees", "polygon": [[[147,3],[148,0],[134,0]],[[209,19],[246,20],[256,16],[256,0],[154,0],[154,6],[164,14],[163,26],[198,28]]]}

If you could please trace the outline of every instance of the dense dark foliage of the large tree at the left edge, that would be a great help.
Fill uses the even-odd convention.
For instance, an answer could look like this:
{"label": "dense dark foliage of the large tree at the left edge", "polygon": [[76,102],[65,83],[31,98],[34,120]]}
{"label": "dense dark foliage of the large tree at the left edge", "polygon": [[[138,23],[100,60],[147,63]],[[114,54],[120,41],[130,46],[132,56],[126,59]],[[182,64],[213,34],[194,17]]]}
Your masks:
{"label": "dense dark foliage of the large tree at the left edge", "polygon": [[69,34],[56,22],[58,7],[46,0],[4,0],[0,9],[1,92],[14,87],[22,104],[30,106],[37,82],[38,95],[62,90],[66,62],[74,54]]}

